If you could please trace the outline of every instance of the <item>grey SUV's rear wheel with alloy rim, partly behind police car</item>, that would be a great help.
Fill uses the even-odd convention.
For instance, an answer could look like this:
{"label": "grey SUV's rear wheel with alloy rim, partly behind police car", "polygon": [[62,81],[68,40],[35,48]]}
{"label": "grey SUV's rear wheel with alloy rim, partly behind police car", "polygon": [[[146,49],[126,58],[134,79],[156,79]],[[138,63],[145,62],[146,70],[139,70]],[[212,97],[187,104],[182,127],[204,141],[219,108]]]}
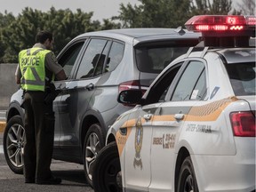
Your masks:
{"label": "grey SUV's rear wheel with alloy rim, partly behind police car", "polygon": [[105,135],[100,124],[92,124],[84,140],[84,172],[85,179],[92,186],[92,171],[96,156],[104,147]]}

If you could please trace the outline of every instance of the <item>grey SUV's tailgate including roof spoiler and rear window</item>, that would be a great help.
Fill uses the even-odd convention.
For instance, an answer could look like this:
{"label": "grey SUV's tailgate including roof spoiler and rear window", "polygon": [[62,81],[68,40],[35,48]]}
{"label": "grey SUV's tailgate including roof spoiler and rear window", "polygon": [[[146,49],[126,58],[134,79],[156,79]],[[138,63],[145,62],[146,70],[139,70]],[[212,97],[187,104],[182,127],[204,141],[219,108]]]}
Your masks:
{"label": "grey SUV's tailgate including roof spoiler and rear window", "polygon": [[148,87],[172,60],[185,54],[189,47],[196,44],[196,36],[136,44],[134,49],[137,68],[140,71],[140,85]]}

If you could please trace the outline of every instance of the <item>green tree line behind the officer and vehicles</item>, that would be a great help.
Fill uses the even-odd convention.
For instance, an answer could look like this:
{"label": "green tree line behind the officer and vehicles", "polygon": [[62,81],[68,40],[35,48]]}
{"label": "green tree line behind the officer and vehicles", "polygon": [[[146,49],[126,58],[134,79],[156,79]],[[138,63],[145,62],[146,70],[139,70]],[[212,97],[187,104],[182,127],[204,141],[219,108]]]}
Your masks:
{"label": "green tree line behind the officer and vehicles", "polygon": [[[245,3],[248,1],[251,0]],[[138,2],[138,5],[120,4],[119,15],[104,19],[102,23],[92,20],[93,12],[81,9],[71,12],[52,7],[48,12],[42,12],[26,7],[18,16],[13,16],[12,12],[0,12],[0,63],[17,63],[20,50],[33,46],[36,33],[42,29],[53,33],[54,52],[58,54],[72,38],[85,32],[112,28],[177,28],[193,15],[242,13],[242,10],[233,8],[232,0]]]}

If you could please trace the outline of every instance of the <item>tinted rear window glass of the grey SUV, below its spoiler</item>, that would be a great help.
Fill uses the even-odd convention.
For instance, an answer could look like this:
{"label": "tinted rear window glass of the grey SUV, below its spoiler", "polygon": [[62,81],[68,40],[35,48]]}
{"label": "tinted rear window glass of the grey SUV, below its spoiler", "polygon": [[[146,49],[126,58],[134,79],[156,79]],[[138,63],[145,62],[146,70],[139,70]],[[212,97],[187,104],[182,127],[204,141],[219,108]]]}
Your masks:
{"label": "tinted rear window glass of the grey SUV, below its spoiler", "polygon": [[141,72],[159,74],[189,47],[140,47],[135,50],[137,67]]}

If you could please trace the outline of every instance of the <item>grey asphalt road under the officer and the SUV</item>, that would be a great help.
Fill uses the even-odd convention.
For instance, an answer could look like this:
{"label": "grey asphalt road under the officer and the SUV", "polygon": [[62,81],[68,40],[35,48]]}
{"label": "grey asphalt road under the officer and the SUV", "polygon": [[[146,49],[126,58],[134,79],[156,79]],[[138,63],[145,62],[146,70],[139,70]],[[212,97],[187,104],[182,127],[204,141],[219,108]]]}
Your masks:
{"label": "grey asphalt road under the officer and the SUV", "polygon": [[0,133],[0,191],[2,192],[93,192],[85,183],[83,165],[52,160],[52,172],[62,179],[60,185],[25,184],[23,175],[13,173],[4,159],[3,133]]}

